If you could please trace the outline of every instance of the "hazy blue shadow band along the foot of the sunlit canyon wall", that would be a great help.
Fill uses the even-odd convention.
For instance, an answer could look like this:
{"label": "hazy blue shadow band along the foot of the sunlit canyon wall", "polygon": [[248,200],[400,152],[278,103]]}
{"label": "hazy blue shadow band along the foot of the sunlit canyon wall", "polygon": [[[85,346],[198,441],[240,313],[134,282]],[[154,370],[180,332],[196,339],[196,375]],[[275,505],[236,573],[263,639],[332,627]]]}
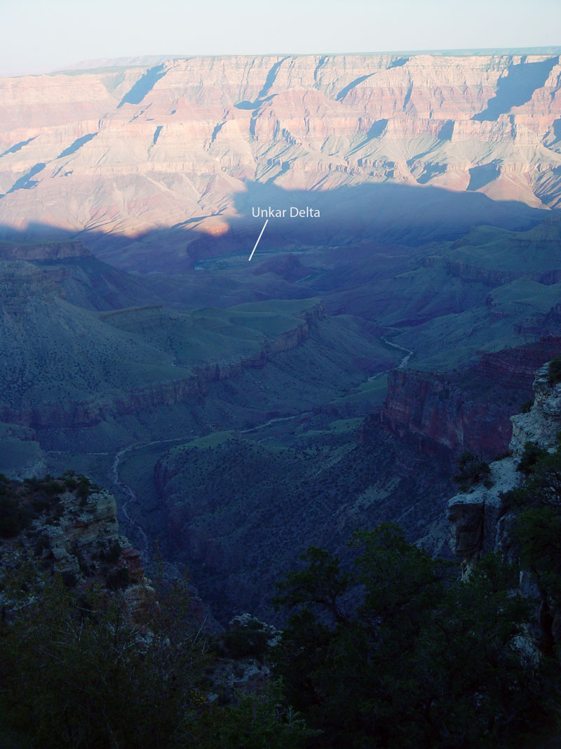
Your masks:
{"label": "hazy blue shadow band along the foot of the sunlit canyon wall", "polygon": [[[328,174],[326,174],[326,179]],[[285,209],[271,217],[261,250],[293,250],[304,246],[346,246],[364,240],[418,247],[453,240],[472,226],[491,225],[524,230],[542,221],[545,211],[518,201],[493,201],[479,192],[451,192],[436,187],[367,184],[325,190],[285,190],[272,182],[245,183],[234,196],[237,216],[214,216],[220,225],[202,228],[209,216],[195,216],[168,228],[136,236],[102,231],[64,230],[31,224],[18,231],[0,222],[0,237],[13,241],[82,240],[98,258],[138,273],[182,273],[203,258],[247,252],[263,227],[264,217],[252,209]],[[31,188],[32,189],[32,188]],[[290,207],[319,210],[319,218],[289,218]]]}

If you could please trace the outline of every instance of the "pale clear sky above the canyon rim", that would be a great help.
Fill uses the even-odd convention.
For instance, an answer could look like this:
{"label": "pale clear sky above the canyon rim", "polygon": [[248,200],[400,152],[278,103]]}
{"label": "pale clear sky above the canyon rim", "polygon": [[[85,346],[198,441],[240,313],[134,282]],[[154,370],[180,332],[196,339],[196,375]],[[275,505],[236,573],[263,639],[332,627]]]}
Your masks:
{"label": "pale clear sky above the canyon rim", "polygon": [[561,0],[0,0],[0,75],[136,55],[561,46]]}

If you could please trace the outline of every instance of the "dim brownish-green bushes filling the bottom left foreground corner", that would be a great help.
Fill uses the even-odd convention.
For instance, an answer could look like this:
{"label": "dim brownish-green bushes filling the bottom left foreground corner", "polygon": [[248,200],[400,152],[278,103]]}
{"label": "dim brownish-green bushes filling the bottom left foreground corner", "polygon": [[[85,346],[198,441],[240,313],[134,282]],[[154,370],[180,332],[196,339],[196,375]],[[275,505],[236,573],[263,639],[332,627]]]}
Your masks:
{"label": "dim brownish-green bushes filling the bottom left foreground corner", "polygon": [[[208,699],[212,665],[176,583],[146,590],[141,625],[125,598],[77,595],[31,568],[4,589],[19,598],[0,624],[0,725],[26,749],[299,749],[310,735],[279,685],[231,705]],[[0,738],[1,741],[1,738]]]}

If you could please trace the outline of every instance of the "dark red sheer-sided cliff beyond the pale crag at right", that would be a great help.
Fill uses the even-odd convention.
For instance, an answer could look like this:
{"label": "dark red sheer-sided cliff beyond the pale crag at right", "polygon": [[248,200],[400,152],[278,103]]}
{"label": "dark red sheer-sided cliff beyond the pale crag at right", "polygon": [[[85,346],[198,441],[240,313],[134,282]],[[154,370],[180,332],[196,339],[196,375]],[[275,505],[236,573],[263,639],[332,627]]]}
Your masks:
{"label": "dark red sheer-sided cliff beyond the pale crag at right", "polygon": [[561,354],[561,338],[483,354],[468,372],[393,370],[381,424],[427,455],[468,449],[487,460],[509,448],[510,415],[532,392],[536,369]]}

